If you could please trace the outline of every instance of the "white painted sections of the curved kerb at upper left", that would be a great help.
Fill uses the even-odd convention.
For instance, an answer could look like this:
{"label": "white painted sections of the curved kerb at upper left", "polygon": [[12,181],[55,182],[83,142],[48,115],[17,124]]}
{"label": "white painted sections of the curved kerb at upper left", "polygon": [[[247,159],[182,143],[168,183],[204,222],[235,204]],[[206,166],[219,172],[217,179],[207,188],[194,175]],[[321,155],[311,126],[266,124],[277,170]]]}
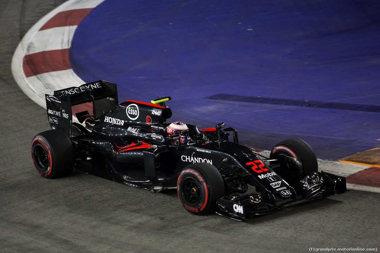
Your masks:
{"label": "white painted sections of the curved kerb at upper left", "polygon": [[72,9],[95,8],[103,1],[69,0],[63,3],[33,25],[17,46],[11,65],[13,77],[21,90],[41,107],[46,108],[45,93],[53,94],[54,90],[79,86],[85,82],[73,70],[54,71],[32,77],[25,76],[22,66],[25,55],[70,48],[77,26],[55,27],[39,31],[40,28],[57,13]]}

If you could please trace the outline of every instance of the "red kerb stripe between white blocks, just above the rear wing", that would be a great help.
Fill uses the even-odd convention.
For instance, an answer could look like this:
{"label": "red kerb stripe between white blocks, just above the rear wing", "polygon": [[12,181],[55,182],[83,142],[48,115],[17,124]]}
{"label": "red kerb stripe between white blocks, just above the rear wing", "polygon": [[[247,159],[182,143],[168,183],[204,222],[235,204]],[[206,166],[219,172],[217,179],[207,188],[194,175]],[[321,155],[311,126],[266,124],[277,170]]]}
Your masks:
{"label": "red kerb stripe between white blocks, just above the rear wing", "polygon": [[25,55],[22,66],[26,77],[52,71],[70,70],[69,49],[43,51]]}

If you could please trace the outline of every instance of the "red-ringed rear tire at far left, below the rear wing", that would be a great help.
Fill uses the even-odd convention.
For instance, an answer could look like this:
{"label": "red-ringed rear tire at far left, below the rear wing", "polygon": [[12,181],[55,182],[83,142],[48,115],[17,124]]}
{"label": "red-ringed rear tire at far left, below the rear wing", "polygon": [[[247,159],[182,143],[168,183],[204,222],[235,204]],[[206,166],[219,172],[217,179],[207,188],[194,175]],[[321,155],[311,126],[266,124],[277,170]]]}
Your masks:
{"label": "red-ringed rear tire at far left, below the rear wing", "polygon": [[32,141],[32,160],[41,176],[53,179],[70,174],[74,166],[74,148],[61,130],[37,134]]}

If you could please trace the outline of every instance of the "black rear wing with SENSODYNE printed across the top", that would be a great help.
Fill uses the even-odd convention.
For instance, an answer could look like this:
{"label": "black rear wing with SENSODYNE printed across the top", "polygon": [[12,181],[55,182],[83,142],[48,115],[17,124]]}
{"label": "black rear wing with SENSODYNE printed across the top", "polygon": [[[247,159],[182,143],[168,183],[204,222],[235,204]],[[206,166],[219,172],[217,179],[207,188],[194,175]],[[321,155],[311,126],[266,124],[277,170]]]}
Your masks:
{"label": "black rear wing with SENSODYNE printed across the top", "polygon": [[79,106],[79,111],[76,107],[77,115],[87,115],[88,110],[92,110],[93,118],[97,120],[119,104],[116,84],[103,80],[56,90],[54,95],[45,94],[45,100],[51,129],[60,129],[68,136],[71,134],[73,121],[72,106],[90,103],[87,108]]}

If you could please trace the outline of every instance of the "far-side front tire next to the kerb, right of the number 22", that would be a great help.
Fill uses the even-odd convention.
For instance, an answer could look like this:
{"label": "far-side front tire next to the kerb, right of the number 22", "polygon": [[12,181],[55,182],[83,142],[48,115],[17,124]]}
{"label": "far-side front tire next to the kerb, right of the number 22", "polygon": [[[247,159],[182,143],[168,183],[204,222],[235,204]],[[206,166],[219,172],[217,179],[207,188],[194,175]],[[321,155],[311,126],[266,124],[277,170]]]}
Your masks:
{"label": "far-side front tire next to the kerb, right of the number 22", "polygon": [[284,155],[300,158],[301,160],[300,163],[289,161],[287,164],[280,164],[282,165],[280,169],[274,169],[274,171],[292,187],[297,187],[300,180],[310,173],[318,171],[318,162],[315,153],[309,144],[301,139],[291,138],[277,143],[273,147],[269,158],[278,159]]}

